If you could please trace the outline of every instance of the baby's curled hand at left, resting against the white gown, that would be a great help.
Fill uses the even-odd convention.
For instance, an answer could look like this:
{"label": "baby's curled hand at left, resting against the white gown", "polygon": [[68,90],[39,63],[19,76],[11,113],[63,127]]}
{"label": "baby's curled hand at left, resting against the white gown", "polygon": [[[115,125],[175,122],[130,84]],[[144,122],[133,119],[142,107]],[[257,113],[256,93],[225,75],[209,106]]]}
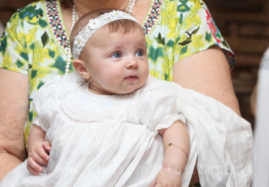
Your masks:
{"label": "baby's curled hand at left, resting against the white gown", "polygon": [[51,145],[49,141],[42,141],[30,148],[28,151],[27,169],[31,174],[39,175],[39,172],[42,171],[42,167],[36,162],[48,165],[50,158],[48,152],[50,151],[50,147]]}

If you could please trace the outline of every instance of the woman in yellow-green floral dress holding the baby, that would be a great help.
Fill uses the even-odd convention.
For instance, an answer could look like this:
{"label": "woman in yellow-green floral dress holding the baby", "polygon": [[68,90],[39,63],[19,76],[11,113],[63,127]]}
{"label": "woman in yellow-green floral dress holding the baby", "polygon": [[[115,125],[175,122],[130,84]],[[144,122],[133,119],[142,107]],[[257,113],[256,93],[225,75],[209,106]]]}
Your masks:
{"label": "woman in yellow-green floral dress holding the baby", "polygon": [[234,56],[202,0],[39,1],[16,12],[1,39],[0,180],[26,159],[24,139],[36,116],[31,101],[38,89],[74,70],[72,25],[100,8],[127,8],[142,25],[151,75],[211,96],[240,115],[230,77]]}

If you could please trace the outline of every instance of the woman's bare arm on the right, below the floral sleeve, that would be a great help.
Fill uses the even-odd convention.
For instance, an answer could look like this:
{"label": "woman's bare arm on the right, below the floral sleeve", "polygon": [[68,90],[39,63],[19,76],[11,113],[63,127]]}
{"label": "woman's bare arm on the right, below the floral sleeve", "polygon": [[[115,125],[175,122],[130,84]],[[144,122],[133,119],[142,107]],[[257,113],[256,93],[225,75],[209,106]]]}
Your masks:
{"label": "woman's bare arm on the right, below the floral sleeve", "polygon": [[[173,82],[213,97],[241,116],[225,55],[217,47],[190,55],[173,65]],[[199,182],[197,162],[191,183]]]}

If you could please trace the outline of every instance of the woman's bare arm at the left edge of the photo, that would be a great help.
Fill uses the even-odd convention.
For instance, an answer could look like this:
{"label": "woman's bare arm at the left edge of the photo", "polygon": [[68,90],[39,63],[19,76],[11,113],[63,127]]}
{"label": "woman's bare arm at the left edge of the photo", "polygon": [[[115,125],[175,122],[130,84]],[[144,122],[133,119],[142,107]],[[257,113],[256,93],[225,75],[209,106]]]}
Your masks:
{"label": "woman's bare arm at the left edge of the photo", "polygon": [[0,181],[26,159],[24,126],[29,108],[28,75],[0,69]]}

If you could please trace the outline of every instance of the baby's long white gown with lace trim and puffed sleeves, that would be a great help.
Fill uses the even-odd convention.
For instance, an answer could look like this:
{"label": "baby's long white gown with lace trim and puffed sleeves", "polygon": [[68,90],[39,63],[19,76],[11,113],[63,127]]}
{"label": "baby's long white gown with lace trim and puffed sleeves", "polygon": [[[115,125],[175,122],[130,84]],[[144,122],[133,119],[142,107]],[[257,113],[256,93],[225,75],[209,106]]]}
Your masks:
{"label": "baby's long white gown with lace trim and puffed sleeves", "polygon": [[227,106],[151,76],[124,95],[95,95],[88,84],[74,72],[41,87],[33,100],[35,123],[51,143],[49,164],[34,176],[25,161],[0,187],[148,187],[164,155],[157,130],[186,118],[191,148],[182,187],[189,186],[197,155],[202,186],[250,185],[252,130]]}

